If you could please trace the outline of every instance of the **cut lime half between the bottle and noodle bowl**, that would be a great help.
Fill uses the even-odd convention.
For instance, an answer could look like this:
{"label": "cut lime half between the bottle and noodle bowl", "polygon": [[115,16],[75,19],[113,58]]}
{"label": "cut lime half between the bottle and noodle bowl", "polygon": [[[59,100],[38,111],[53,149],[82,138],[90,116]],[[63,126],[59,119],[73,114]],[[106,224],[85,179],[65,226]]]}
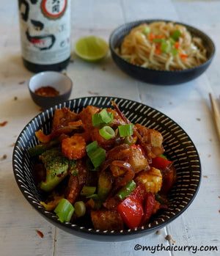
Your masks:
{"label": "cut lime half between the bottle and noodle bowl", "polygon": [[87,62],[103,59],[109,51],[109,45],[100,37],[81,37],[75,44],[75,52]]}

